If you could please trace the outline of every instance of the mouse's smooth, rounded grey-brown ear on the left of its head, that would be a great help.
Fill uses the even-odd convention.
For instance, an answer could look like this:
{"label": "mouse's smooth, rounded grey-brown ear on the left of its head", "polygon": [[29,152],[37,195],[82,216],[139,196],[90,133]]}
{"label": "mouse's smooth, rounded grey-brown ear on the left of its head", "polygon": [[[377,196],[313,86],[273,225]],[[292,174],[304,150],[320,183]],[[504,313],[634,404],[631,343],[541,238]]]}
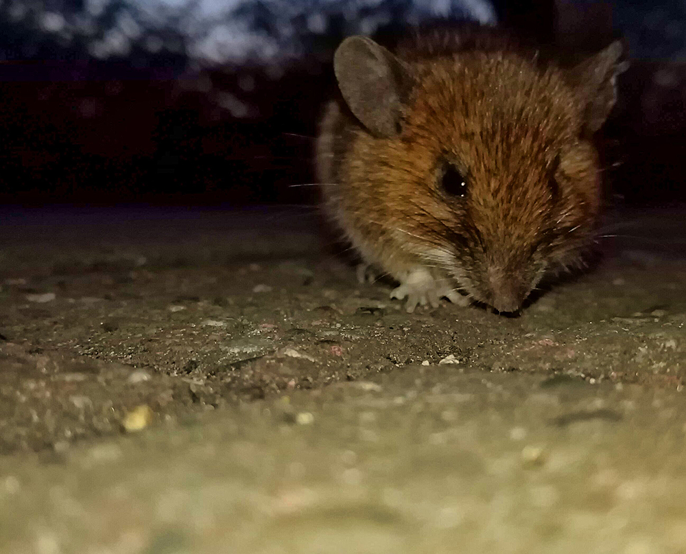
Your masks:
{"label": "mouse's smooth, rounded grey-brown ear on the left of its head", "polygon": [[351,36],[336,50],[333,71],[348,108],[368,130],[379,137],[398,134],[410,89],[404,62],[371,38]]}

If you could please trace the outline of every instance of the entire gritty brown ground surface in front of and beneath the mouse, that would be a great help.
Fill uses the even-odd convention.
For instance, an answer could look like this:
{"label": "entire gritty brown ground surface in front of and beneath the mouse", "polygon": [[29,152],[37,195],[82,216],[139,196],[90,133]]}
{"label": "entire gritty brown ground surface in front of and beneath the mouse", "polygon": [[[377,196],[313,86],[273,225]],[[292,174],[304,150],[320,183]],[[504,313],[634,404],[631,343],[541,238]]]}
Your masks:
{"label": "entire gritty brown ground surface in front of and beneath the mouse", "polygon": [[6,211],[0,551],[683,552],[683,220],[506,318],[308,212]]}

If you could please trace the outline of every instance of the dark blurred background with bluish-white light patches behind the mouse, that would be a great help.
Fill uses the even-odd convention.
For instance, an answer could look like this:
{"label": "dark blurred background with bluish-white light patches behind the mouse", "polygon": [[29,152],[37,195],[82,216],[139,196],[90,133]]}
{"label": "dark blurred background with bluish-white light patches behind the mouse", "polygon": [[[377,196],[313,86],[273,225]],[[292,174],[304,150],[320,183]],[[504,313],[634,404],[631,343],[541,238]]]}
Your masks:
{"label": "dark blurred background with bluish-white light patches behind the mouse", "polygon": [[609,196],[686,200],[683,0],[0,0],[0,203],[314,203],[333,49],[437,18],[569,60],[624,38]]}

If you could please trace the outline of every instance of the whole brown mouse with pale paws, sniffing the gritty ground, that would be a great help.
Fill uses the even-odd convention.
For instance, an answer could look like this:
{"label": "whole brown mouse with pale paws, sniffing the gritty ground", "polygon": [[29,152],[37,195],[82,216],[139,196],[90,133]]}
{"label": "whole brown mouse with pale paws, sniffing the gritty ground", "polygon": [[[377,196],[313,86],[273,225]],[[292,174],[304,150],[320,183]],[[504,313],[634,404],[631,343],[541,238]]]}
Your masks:
{"label": "whole brown mouse with pale paws, sniffing the gritty ground", "polygon": [[490,27],[416,34],[390,51],[346,38],[318,176],[331,218],[416,305],[514,312],[571,268],[600,209],[591,142],[615,103],[622,45],[571,69]]}

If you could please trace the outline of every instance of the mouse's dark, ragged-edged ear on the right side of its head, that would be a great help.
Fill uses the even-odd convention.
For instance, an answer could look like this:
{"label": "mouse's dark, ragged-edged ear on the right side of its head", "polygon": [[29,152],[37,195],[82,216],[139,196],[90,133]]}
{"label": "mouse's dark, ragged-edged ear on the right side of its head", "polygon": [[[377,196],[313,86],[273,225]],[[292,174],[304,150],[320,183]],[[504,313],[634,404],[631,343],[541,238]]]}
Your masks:
{"label": "mouse's dark, ragged-edged ear on the right side of its head", "polygon": [[623,51],[622,43],[615,41],[566,71],[584,106],[584,130],[589,133],[602,127],[617,102],[617,75],[628,68],[628,62],[619,62]]}

